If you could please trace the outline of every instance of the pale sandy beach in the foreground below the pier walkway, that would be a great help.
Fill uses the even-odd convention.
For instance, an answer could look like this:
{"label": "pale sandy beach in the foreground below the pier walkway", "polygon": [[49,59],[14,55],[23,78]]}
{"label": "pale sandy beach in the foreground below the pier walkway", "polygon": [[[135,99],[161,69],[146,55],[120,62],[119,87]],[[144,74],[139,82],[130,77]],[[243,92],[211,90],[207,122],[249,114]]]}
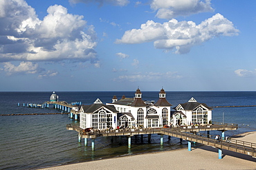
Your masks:
{"label": "pale sandy beach in the foreground below the pier walkway", "polygon": [[[256,143],[256,131],[240,134],[234,138]],[[146,153],[50,167],[45,170],[56,169],[256,169],[256,158],[223,150],[223,158],[219,159],[217,148],[201,146],[192,148],[192,151],[179,149]]]}

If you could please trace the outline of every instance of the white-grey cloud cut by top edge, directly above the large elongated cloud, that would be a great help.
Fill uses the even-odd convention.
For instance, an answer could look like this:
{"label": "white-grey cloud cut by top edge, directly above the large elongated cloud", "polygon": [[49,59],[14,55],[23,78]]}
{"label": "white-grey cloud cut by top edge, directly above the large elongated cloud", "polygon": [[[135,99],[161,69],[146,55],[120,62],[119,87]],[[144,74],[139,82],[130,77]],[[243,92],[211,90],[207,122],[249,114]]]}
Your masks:
{"label": "white-grey cloud cut by top edge, directly above the large elongated cloud", "polygon": [[157,10],[156,17],[160,19],[172,19],[178,16],[214,11],[210,0],[153,0],[150,7],[152,10]]}

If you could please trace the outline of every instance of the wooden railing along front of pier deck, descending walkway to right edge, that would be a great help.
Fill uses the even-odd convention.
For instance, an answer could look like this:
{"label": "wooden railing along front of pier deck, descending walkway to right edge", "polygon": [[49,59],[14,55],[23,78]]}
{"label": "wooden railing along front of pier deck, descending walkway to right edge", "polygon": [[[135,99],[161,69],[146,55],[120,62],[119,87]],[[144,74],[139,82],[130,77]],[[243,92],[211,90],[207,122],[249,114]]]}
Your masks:
{"label": "wooden railing along front of pier deck, descending walkway to right edge", "polygon": [[246,142],[242,140],[235,140],[231,138],[228,141],[226,140],[215,140],[214,135],[210,134],[204,134],[199,132],[184,132],[182,129],[176,129],[176,128],[143,128],[142,131],[139,129],[136,129],[136,131],[131,131],[131,129],[119,129],[106,131],[106,130],[100,130],[100,129],[94,129],[90,132],[84,132],[82,128],[78,127],[77,125],[66,125],[67,129],[71,128],[77,132],[79,132],[80,137],[83,135],[86,135],[86,138],[97,138],[99,136],[122,136],[122,135],[138,135],[140,134],[164,134],[168,136],[174,136],[176,138],[183,138],[184,140],[191,140],[194,142],[199,142],[204,145],[210,145],[212,147],[218,147],[221,149],[228,149],[230,151],[237,151],[239,153],[244,153],[249,155],[249,152],[252,153],[252,156],[255,156],[256,154],[256,143],[253,142]]}

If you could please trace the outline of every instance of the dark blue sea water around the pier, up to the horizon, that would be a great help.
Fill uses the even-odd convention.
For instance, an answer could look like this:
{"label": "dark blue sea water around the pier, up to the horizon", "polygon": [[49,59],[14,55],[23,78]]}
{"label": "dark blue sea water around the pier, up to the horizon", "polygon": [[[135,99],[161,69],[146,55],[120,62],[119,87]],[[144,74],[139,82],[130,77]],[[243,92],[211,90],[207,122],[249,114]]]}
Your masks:
{"label": "dark blue sea water around the pier, up to the horizon", "polygon": [[[159,92],[143,92],[143,100],[158,100]],[[53,108],[23,107],[23,103],[42,104],[48,101],[52,92],[0,92],[0,114],[59,113]],[[134,97],[135,92],[56,92],[59,100],[68,103],[82,102],[91,105],[97,98],[102,103],[111,103],[113,95],[118,99],[125,95]],[[256,92],[166,92],[172,107],[186,103],[194,97],[199,103],[216,106],[256,105]],[[20,103],[18,106],[17,103]],[[232,136],[248,131],[256,131],[256,107],[217,107],[212,111],[212,121],[238,124],[236,131],[226,131]],[[91,151],[91,141],[84,146],[78,142],[76,131],[66,130],[67,124],[77,124],[67,114],[0,116],[0,169],[40,169],[63,164],[88,162],[106,158],[118,158],[135,154],[170,151],[188,147],[188,142],[180,143],[179,138],[168,139],[160,145],[160,136],[152,135],[150,143],[147,135],[133,136],[131,149],[127,137],[101,137],[95,139],[95,151]],[[210,131],[210,134],[221,134]]]}

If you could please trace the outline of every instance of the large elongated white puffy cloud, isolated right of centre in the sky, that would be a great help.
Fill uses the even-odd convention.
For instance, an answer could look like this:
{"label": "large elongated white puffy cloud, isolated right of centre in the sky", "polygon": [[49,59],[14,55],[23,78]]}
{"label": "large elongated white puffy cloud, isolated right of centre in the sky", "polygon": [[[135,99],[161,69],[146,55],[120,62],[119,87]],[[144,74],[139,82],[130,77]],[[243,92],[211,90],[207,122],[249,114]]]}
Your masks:
{"label": "large elongated white puffy cloud, isolated right of centre in the sky", "polygon": [[146,43],[154,41],[158,49],[173,50],[176,54],[190,52],[194,45],[199,45],[216,36],[234,36],[239,30],[235,29],[232,22],[221,14],[215,14],[199,25],[193,21],[177,21],[172,19],[163,24],[147,21],[140,29],[127,30],[122,39],[116,43]]}

